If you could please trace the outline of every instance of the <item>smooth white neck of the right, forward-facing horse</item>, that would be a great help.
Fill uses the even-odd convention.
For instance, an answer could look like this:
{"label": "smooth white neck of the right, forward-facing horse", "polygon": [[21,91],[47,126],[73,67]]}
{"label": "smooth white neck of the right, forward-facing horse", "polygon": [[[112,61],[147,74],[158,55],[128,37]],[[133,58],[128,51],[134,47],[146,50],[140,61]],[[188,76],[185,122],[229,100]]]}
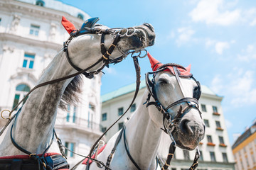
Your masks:
{"label": "smooth white neck of the right, forward-facing horse", "polygon": [[141,169],[152,169],[155,166],[156,152],[161,137],[161,130],[149,116],[149,108],[143,105],[148,93],[146,90],[142,103],[126,125],[129,152]]}

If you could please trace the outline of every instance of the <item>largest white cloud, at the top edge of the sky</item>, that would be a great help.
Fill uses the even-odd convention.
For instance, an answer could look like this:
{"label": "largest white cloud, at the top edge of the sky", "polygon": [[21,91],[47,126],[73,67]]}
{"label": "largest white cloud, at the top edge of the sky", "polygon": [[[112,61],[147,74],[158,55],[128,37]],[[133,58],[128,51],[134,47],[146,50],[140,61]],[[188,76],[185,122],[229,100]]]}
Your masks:
{"label": "largest white cloud, at the top edge of the sky", "polygon": [[221,26],[230,26],[240,20],[240,10],[228,11],[223,6],[226,6],[224,0],[201,0],[196,8],[189,13],[189,16],[195,22],[205,22]]}

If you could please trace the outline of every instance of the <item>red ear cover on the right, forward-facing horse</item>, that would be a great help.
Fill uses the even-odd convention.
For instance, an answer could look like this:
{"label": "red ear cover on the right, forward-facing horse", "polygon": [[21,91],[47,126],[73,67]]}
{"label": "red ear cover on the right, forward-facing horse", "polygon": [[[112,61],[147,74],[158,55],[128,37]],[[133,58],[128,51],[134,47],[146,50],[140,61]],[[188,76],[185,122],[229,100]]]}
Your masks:
{"label": "red ear cover on the right, forward-facing horse", "polygon": [[[153,72],[155,72],[159,67],[161,67],[162,64],[161,62],[159,62],[158,60],[156,60],[154,57],[152,57],[149,52],[147,53],[147,56],[149,57],[149,62],[151,64],[151,68],[153,70]],[[174,74],[174,68],[171,67],[171,66],[168,66],[169,69],[165,69],[164,71],[166,72],[170,72],[171,70],[171,73]],[[180,67],[177,67],[178,68],[178,74],[180,77],[191,77],[191,73],[190,73],[190,70],[191,70],[191,64],[188,65],[188,67],[186,67],[186,69],[182,69]]]}

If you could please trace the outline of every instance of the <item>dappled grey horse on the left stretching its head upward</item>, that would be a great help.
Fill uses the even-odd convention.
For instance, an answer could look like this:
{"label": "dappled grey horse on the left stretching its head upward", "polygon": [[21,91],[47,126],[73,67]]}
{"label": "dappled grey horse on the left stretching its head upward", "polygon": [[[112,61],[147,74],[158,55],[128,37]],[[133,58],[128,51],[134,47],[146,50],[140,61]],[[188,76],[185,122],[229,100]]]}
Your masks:
{"label": "dappled grey horse on the left stretching its head upward", "polygon": [[[97,18],[92,18],[85,21],[80,30],[73,30],[74,28],[68,30],[72,24],[68,23],[65,18],[63,19],[64,25],[70,24],[66,29],[72,36],[65,43],[65,48],[60,50],[50,62],[37,84],[74,74],[78,72],[76,69],[87,67],[91,67],[87,72],[95,74],[97,72],[94,71],[100,72],[99,69],[102,69],[106,63],[111,63],[113,60],[114,62],[121,61],[129,50],[139,51],[154,45],[154,28],[148,23],[132,28],[109,29],[106,26],[95,25],[97,20]],[[102,34],[105,34],[103,42]],[[117,36],[119,36],[118,40],[116,40]],[[113,45],[114,43],[116,44]],[[105,48],[104,54],[102,54],[102,47]],[[67,48],[68,54],[65,54]],[[65,55],[68,55],[69,62]],[[115,60],[117,58],[118,61]],[[87,76],[91,77],[92,74]],[[53,137],[58,107],[63,108],[65,103],[76,101],[73,95],[76,90],[79,90],[79,83],[80,78],[74,79],[73,77],[34,90],[28,96],[21,112],[1,135],[0,156],[24,154],[11,142],[11,125],[14,125],[12,134],[17,145],[34,154],[45,152]],[[51,148],[49,151],[60,152],[58,149]]]}

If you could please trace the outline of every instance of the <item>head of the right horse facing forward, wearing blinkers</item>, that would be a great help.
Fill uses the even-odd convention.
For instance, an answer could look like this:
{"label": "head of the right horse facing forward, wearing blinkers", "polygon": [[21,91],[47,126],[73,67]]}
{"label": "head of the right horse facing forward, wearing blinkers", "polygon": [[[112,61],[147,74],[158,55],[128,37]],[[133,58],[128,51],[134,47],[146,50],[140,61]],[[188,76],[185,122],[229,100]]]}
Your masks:
{"label": "head of the right horse facing forward, wearing blinkers", "polygon": [[[178,147],[192,150],[203,140],[205,125],[198,109],[200,84],[190,73],[190,66],[161,64],[149,55],[153,81],[146,76],[149,94],[158,111],[149,111],[151,119],[173,137]],[[149,98],[148,98],[149,100]]]}

